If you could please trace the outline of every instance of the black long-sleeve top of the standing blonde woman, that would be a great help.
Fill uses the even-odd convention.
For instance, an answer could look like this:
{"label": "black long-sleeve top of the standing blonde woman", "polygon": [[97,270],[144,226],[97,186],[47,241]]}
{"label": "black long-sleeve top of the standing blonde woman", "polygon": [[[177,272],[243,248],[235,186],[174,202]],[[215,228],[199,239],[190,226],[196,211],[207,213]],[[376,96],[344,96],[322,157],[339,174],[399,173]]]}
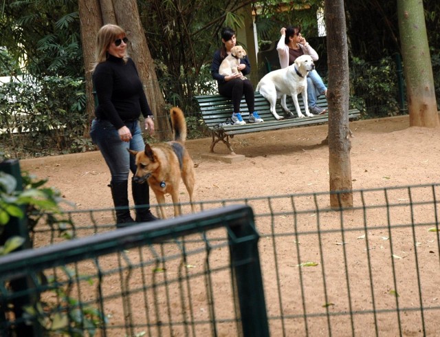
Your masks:
{"label": "black long-sleeve top of the standing blonde woman", "polygon": [[131,58],[124,63],[122,58],[109,55],[96,66],[93,80],[98,96],[96,118],[109,120],[120,129],[124,120],[139,118],[140,113],[144,117],[153,115]]}

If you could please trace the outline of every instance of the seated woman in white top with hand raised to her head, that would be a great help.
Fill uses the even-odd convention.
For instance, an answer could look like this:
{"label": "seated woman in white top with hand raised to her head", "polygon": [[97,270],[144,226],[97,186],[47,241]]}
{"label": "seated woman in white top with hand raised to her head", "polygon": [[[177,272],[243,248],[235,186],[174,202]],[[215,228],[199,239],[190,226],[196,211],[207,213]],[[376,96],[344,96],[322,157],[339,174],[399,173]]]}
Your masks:
{"label": "seated woman in white top with hand raised to her head", "polygon": [[[278,58],[282,68],[292,65],[296,58],[301,55],[311,56],[313,61],[318,61],[318,53],[309,45],[306,39],[301,36],[300,28],[287,27],[281,28],[281,38],[276,45]],[[307,75],[307,100],[309,102],[309,111],[314,115],[326,113],[326,109],[322,109],[316,105],[316,100],[320,95],[327,97],[327,87],[322,82],[316,70],[312,70]]]}

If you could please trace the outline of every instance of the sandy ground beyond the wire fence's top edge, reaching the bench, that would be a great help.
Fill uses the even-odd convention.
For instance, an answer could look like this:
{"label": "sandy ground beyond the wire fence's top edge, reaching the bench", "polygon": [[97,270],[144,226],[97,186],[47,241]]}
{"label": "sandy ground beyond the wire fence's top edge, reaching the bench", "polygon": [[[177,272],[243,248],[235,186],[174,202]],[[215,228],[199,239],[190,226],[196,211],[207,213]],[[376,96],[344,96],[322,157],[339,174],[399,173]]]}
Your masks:
{"label": "sandy ground beyond the wire fence's top edge, reaching the bench", "polygon": [[[440,129],[410,128],[408,116],[398,116],[351,122],[351,131],[353,189],[439,182]],[[326,135],[327,124],[236,135],[234,151],[246,158],[232,164],[201,157],[209,151],[210,138],[189,140],[186,146],[197,166],[195,199],[327,191],[329,151],[321,145]],[[214,151],[228,153],[221,143]],[[112,206],[109,170],[98,151],[22,160],[21,168],[47,178],[80,209]],[[181,193],[181,202],[187,201]]]}

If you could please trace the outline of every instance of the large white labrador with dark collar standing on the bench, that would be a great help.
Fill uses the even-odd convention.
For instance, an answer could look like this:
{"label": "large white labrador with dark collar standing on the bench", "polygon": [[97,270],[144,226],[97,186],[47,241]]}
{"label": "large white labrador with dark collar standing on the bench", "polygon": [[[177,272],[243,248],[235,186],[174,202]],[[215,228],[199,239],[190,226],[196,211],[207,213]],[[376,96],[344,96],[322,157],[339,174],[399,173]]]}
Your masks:
{"label": "large white labrador with dark collar standing on the bench", "polygon": [[294,100],[296,113],[298,117],[305,117],[301,113],[300,105],[298,103],[298,94],[303,96],[304,109],[306,116],[313,117],[314,115],[309,111],[307,104],[307,74],[315,69],[314,61],[309,55],[301,55],[296,58],[292,65],[287,68],[274,70],[261,78],[256,90],[270,102],[270,111],[277,120],[282,120],[284,117],[276,113],[276,100],[281,98],[281,107],[288,114],[292,114],[286,105],[286,96],[292,96]]}

